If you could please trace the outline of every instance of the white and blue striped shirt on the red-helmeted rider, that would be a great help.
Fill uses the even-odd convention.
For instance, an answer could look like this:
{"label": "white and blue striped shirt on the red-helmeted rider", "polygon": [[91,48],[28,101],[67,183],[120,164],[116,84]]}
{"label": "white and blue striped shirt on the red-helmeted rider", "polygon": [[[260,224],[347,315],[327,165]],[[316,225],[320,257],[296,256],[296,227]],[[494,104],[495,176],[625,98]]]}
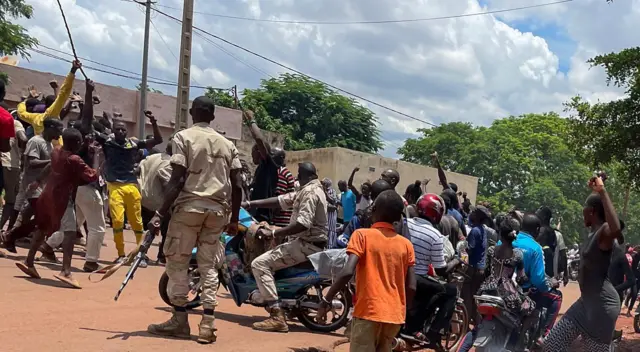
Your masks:
{"label": "white and blue striped shirt on the red-helmeted rider", "polygon": [[407,220],[411,243],[416,254],[416,274],[426,276],[429,264],[435,269],[444,268],[444,236],[428,220],[411,218]]}

